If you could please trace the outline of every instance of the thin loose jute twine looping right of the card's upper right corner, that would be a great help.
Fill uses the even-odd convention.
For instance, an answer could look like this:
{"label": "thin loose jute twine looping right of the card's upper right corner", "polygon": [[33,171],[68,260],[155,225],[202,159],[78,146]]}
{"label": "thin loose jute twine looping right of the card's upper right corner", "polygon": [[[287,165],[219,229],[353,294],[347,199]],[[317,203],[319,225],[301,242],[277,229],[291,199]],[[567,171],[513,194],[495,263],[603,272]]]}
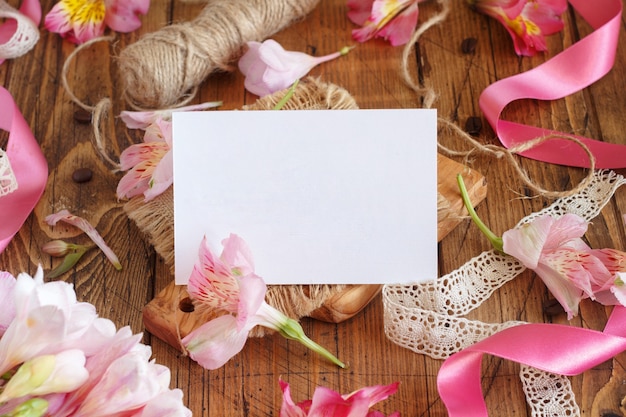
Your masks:
{"label": "thin loose jute twine looping right of the card's upper right corner", "polygon": [[[409,57],[415,52],[416,45],[422,35],[433,26],[443,23],[448,17],[448,14],[450,13],[450,0],[438,0],[437,3],[440,6],[439,12],[427,19],[424,23],[420,24],[418,28],[413,32],[413,35],[411,36],[409,42],[404,46],[404,49],[402,51],[402,63],[400,67],[402,79],[413,91],[415,91],[420,97],[422,97],[424,108],[432,108],[435,101],[437,100],[437,93],[435,92],[435,89],[432,87],[432,85],[421,86],[418,81],[414,80],[413,75],[409,71]],[[505,158],[507,162],[513,167],[519,178],[524,182],[524,184],[526,184],[535,193],[543,197],[562,198],[578,194],[581,190],[586,188],[593,180],[596,159],[589,150],[589,148],[582,141],[574,136],[555,133],[551,135],[537,137],[507,149],[497,145],[482,144],[478,142],[476,139],[474,139],[471,135],[462,130],[456,123],[448,118],[438,117],[437,120],[441,125],[447,127],[455,135],[468,142],[472,147],[472,149],[470,149],[469,151],[457,151],[442,145],[438,139],[437,146],[440,151],[450,156],[464,156],[466,162],[469,160],[470,155],[476,153],[492,155],[496,158]],[[548,190],[537,185],[528,176],[526,171],[524,171],[516,158],[516,155],[519,153],[535,148],[547,141],[557,139],[574,142],[581,147],[581,149],[587,154],[589,158],[589,169],[585,178],[580,181],[575,187],[565,191]]]}

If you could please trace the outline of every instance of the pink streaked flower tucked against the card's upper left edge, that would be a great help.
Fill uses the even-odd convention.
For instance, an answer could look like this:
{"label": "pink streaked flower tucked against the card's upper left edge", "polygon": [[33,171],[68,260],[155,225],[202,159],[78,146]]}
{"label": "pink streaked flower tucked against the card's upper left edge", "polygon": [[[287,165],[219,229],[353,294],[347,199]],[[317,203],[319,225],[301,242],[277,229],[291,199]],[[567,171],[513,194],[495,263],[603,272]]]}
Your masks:
{"label": "pink streaked flower tucked against the card's upper left edge", "polygon": [[172,123],[157,117],[146,128],[143,140],[120,155],[120,169],[128,172],[117,185],[118,198],[143,194],[144,201],[149,201],[174,182]]}

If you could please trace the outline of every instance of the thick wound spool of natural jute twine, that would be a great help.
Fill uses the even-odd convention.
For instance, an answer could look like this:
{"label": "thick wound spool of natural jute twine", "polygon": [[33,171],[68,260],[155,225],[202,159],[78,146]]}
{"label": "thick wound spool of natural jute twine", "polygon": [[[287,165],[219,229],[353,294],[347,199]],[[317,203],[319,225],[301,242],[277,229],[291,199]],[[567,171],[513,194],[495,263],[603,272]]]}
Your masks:
{"label": "thick wound spool of natural jute twine", "polygon": [[129,105],[182,105],[249,41],[262,41],[312,11],[319,0],[211,0],[190,22],[143,36],[119,56]]}

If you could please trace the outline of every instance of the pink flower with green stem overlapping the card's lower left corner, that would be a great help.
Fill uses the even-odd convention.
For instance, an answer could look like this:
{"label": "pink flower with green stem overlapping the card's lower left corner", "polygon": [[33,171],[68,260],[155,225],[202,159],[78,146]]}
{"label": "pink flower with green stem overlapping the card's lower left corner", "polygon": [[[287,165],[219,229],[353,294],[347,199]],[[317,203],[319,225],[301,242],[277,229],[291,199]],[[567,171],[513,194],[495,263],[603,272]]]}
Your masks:
{"label": "pink flower with green stem overlapping the card's lower left corner", "polygon": [[202,240],[199,259],[187,284],[187,292],[197,308],[210,308],[227,314],[193,330],[182,340],[189,356],[206,369],[217,369],[243,349],[248,333],[265,326],[297,340],[340,367],[345,365],[330,352],[309,339],[300,324],[265,302],[267,287],[254,274],[250,249],[243,239],[231,234],[222,242],[219,258]]}

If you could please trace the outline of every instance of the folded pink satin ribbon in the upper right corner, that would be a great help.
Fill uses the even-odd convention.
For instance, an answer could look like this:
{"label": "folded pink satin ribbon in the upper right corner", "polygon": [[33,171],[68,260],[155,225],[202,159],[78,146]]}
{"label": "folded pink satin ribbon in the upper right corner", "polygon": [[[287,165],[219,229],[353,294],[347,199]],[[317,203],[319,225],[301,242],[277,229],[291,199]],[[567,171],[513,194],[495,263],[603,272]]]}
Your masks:
{"label": "folded pink satin ribbon in the upper right corner", "polygon": [[[501,120],[504,108],[519,99],[556,100],[593,84],[612,68],[622,15],[621,0],[570,0],[570,4],[595,29],[554,58],[529,71],[517,74],[487,87],[479,104],[485,118],[501,143],[514,147],[543,136],[566,135],[549,129]],[[576,135],[596,158],[597,168],[626,167],[626,146]],[[521,152],[539,161],[561,165],[589,167],[589,157],[576,143],[554,139]]]}

